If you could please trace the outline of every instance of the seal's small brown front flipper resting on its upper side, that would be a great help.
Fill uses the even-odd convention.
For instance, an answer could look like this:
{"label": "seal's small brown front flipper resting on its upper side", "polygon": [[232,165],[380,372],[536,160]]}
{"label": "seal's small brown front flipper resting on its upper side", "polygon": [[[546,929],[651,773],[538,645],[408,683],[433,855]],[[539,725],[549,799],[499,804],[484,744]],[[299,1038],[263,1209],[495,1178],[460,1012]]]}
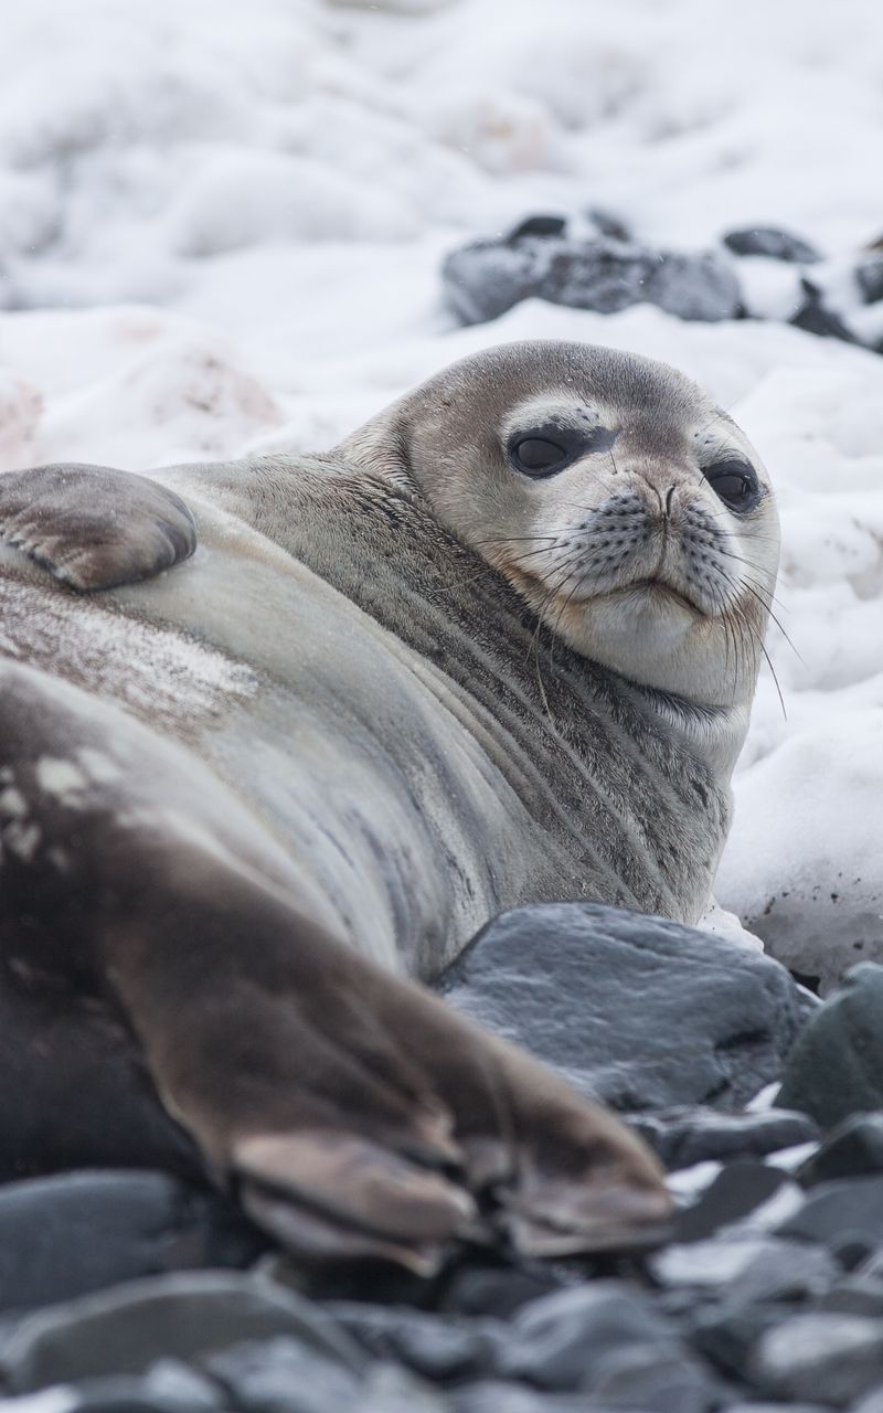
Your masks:
{"label": "seal's small brown front flipper resting on its upper side", "polygon": [[146,476],[59,463],[0,475],[0,544],[90,593],[181,564],[196,526],[179,496]]}

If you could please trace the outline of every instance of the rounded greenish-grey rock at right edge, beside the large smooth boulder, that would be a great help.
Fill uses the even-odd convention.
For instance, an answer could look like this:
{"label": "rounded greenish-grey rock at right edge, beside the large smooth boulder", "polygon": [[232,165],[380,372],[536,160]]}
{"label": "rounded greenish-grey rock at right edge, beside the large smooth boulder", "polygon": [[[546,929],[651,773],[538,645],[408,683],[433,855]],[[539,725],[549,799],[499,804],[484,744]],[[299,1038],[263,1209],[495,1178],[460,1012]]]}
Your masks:
{"label": "rounded greenish-grey rock at right edge, beside the large smooth boulder", "polygon": [[883,1108],[883,966],[853,966],[788,1057],[778,1102],[831,1129]]}

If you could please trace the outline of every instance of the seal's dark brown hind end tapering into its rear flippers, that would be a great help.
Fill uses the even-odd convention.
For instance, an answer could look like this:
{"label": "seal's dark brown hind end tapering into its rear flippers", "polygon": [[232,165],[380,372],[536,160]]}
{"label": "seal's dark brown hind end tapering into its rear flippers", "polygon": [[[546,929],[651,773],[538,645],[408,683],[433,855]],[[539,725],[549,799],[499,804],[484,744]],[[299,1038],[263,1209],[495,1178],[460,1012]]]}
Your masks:
{"label": "seal's dark brown hind end tapering into its rear flippers", "polygon": [[297,1256],[429,1273],[459,1238],[658,1239],[661,1170],[616,1119],[359,957],[206,766],[3,658],[0,835],[0,964],[107,1006],[209,1171]]}

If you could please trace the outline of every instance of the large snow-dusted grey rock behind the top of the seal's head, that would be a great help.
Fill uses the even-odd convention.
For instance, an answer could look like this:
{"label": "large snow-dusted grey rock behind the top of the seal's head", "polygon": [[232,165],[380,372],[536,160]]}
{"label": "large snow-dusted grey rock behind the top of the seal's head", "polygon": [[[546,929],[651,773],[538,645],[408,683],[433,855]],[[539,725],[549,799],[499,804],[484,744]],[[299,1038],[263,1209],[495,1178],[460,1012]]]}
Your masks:
{"label": "large snow-dusted grey rock behind the top of the seal's head", "polygon": [[[514,233],[513,233],[514,236]],[[520,300],[613,314],[647,301],[684,319],[729,319],[740,287],[715,252],[677,254],[626,240],[574,239],[551,230],[476,240],[442,266],[448,302],[463,324],[494,319]]]}

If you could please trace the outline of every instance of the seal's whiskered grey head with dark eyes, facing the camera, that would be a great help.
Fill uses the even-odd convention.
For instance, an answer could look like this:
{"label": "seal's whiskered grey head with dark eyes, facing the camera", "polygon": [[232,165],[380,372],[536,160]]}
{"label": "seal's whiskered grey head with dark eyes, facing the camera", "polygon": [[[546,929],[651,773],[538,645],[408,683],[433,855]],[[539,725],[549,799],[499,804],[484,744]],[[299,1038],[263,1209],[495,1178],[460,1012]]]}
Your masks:
{"label": "seal's whiskered grey head with dark eyes, facing the camera", "polygon": [[778,561],[764,468],[681,373],[583,343],[486,349],[339,454],[417,486],[571,647],[632,681],[747,705]]}

